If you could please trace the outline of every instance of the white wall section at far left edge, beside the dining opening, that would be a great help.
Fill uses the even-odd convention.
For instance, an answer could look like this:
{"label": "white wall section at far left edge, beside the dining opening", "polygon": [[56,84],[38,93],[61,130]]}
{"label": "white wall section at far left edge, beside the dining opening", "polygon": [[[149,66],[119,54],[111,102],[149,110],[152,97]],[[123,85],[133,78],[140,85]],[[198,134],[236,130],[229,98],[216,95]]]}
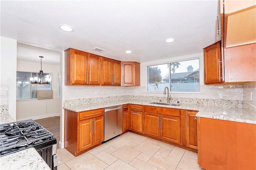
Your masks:
{"label": "white wall section at far left edge, beside the dining opening", "polygon": [[9,105],[9,114],[16,120],[16,58],[17,40],[6,37],[1,38],[0,55],[0,82],[1,91],[6,92],[2,104]]}

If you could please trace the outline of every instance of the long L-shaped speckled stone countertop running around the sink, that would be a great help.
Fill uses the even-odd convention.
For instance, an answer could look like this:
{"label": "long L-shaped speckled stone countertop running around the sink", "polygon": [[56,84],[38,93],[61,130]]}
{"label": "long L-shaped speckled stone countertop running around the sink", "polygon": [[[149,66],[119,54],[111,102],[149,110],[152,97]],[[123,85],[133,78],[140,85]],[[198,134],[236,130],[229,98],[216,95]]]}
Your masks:
{"label": "long L-shaped speckled stone countertop running around the sink", "polygon": [[[152,101],[154,102],[154,101]],[[167,106],[167,105],[158,105],[150,104],[149,101],[139,101],[139,100],[118,100],[111,102],[101,102],[101,103],[92,103],[84,105],[75,105],[75,106],[64,106],[66,110],[80,112],[88,111],[92,109],[99,109],[104,107],[118,106],[123,104],[140,104],[146,106],[158,106],[158,107],[168,107],[176,109],[186,109],[186,110],[196,110],[198,113],[197,117],[207,117],[212,119],[222,119],[228,121],[237,121],[244,123],[256,124],[256,109],[254,108],[225,108],[219,106],[206,106],[206,105],[192,105],[192,104],[181,104],[180,106]]]}

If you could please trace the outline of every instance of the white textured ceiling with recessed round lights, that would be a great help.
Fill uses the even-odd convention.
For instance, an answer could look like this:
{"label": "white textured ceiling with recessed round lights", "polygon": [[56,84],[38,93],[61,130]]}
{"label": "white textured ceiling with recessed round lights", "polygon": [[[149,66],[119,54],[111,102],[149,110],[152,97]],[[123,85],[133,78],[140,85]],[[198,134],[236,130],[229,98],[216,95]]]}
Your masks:
{"label": "white textured ceiling with recessed round lights", "polygon": [[[40,61],[38,56],[45,54],[26,46],[32,45],[57,52],[44,56],[45,63],[59,63],[59,52],[70,47],[143,63],[163,59],[164,55],[168,58],[201,53],[204,47],[220,40],[216,36],[218,3],[219,0],[1,0],[1,36],[25,44],[18,44],[18,60]],[[60,30],[60,24],[71,25],[74,32]],[[176,41],[165,43],[170,37]],[[92,51],[95,47],[106,51]],[[126,50],[132,53],[124,53]]]}

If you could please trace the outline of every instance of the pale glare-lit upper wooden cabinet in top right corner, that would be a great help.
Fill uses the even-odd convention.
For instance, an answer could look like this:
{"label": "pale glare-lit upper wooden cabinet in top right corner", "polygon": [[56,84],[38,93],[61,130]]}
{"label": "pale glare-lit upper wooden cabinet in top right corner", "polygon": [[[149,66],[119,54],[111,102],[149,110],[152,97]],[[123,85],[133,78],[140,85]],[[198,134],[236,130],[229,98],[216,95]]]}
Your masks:
{"label": "pale glare-lit upper wooden cabinet in top right corner", "polygon": [[220,0],[221,24],[225,25],[222,27],[225,36],[222,37],[224,47],[256,43],[256,1],[225,0],[224,8],[225,14],[223,14],[223,0]]}

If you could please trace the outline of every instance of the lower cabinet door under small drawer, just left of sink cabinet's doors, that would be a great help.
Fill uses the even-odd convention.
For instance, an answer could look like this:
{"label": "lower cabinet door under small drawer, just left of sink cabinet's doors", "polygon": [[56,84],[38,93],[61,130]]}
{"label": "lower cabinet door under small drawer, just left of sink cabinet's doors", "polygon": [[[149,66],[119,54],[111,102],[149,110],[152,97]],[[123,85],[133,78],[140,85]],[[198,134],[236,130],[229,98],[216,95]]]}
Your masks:
{"label": "lower cabinet door under small drawer, just left of sink cabinet's doors", "polygon": [[131,116],[131,119],[130,119],[131,127],[130,127],[130,129],[132,131],[143,133],[142,111],[133,111],[133,110],[131,110],[130,116]]}

